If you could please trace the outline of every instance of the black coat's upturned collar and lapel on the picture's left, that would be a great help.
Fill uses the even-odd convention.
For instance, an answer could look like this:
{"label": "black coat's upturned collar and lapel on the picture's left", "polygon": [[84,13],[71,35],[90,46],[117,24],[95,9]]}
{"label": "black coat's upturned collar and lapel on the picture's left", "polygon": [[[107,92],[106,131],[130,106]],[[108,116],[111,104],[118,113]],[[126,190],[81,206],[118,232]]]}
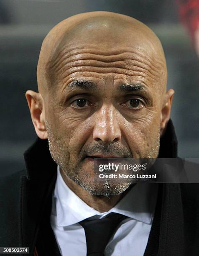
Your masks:
{"label": "black coat's upturned collar and lapel on the picture's left", "polygon": [[32,255],[47,197],[56,182],[56,163],[47,141],[40,139],[25,152],[24,158],[27,176],[22,177],[20,186],[20,246],[29,247]]}

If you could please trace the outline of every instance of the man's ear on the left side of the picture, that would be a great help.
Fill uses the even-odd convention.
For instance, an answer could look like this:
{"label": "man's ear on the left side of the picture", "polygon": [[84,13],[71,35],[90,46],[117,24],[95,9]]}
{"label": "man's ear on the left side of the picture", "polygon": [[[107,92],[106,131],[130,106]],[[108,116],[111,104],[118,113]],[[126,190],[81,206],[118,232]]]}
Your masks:
{"label": "man's ear on the left side of the picture", "polygon": [[26,100],[31,112],[31,118],[36,134],[43,140],[48,138],[45,124],[45,108],[41,94],[28,90],[26,92]]}

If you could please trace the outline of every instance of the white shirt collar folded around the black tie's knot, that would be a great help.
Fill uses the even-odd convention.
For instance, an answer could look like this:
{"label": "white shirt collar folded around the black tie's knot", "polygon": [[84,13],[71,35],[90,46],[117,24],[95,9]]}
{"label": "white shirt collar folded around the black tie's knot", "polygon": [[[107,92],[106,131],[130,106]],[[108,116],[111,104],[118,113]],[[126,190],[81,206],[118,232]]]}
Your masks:
{"label": "white shirt collar folded around the black tie's knot", "polygon": [[59,166],[53,195],[52,215],[57,216],[58,227],[69,226],[98,215],[103,218],[110,212],[151,224],[156,205],[157,184],[138,183],[108,212],[98,212],[82,201],[64,182]]}

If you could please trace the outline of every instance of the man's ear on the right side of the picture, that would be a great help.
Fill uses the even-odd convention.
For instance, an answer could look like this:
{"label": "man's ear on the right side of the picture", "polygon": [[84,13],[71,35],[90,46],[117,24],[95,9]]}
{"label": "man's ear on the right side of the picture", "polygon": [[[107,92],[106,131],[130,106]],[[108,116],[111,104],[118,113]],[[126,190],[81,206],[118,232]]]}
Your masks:
{"label": "man's ear on the right side of the picture", "polygon": [[166,131],[166,125],[168,123],[168,120],[170,119],[173,95],[173,89],[169,89],[164,95],[163,106],[161,110],[160,136],[162,136]]}

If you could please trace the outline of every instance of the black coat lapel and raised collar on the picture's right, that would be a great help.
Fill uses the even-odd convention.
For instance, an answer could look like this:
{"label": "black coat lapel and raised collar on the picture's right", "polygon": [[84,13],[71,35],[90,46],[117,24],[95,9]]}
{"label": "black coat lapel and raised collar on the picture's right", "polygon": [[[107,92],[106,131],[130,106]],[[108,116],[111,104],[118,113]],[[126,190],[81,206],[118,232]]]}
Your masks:
{"label": "black coat lapel and raised collar on the picture's right", "polygon": [[[177,138],[171,120],[160,143],[159,157],[178,157]],[[184,216],[180,184],[160,184],[160,186],[163,189],[158,255],[183,256]]]}

